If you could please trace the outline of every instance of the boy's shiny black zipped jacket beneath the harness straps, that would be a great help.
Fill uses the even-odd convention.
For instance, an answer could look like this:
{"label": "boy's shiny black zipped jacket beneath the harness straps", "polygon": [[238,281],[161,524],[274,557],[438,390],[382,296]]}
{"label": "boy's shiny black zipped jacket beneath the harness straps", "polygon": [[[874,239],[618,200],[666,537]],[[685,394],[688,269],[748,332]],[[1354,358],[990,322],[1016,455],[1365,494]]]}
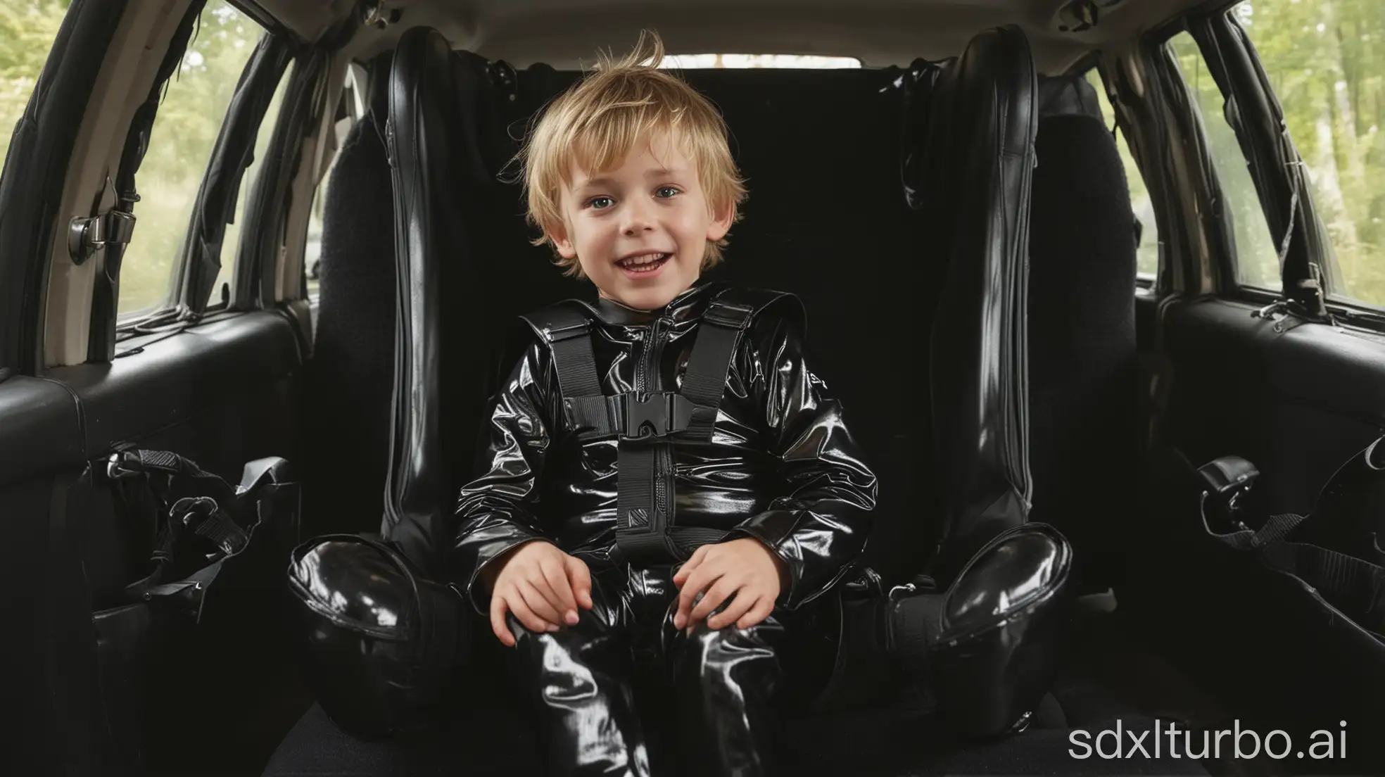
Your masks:
{"label": "boy's shiny black zipped jacket beneath the harness straps", "polygon": [[[694,285],[655,312],[589,306],[602,391],[677,391],[699,316],[722,288]],[[762,310],[737,343],[711,445],[674,443],[672,524],[766,543],[789,571],[778,602],[789,609],[848,572],[877,493],[841,402],[813,373],[805,330],[799,305]],[[524,542],[548,539],[593,571],[623,564],[618,440],[568,434],[561,400],[551,352],[535,338],[493,400],[478,475],[457,504],[452,573],[482,615],[479,571]]]}

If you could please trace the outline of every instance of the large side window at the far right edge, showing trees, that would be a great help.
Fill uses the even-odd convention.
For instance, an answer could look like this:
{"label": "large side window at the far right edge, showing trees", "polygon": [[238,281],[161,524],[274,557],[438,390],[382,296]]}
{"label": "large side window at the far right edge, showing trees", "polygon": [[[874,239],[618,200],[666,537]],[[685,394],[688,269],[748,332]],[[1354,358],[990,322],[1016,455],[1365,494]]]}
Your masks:
{"label": "large side window at the far right edge, showing trees", "polygon": [[1385,305],[1385,3],[1246,0],[1231,12],[1307,168],[1341,273],[1332,296]]}

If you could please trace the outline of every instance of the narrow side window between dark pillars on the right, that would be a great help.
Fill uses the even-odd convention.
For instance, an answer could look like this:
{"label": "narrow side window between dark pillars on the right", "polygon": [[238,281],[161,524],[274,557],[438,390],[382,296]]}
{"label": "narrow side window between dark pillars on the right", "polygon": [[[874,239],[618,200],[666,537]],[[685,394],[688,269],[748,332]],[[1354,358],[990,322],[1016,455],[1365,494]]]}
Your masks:
{"label": "narrow side window between dark pillars on the right", "polygon": [[1226,100],[1222,90],[1208,71],[1202,51],[1191,35],[1180,32],[1169,39],[1168,46],[1177,58],[1179,69],[1202,116],[1208,154],[1216,168],[1226,212],[1231,219],[1237,281],[1242,285],[1278,291],[1281,287],[1278,251],[1270,235],[1270,224],[1265,220],[1265,211],[1260,208],[1241,143],[1226,120]]}

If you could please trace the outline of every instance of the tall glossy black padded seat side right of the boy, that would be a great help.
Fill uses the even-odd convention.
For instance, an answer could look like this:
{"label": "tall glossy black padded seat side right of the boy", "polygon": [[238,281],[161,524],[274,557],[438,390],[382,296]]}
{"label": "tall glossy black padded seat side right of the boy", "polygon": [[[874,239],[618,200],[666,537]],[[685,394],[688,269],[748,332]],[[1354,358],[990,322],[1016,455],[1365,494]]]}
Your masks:
{"label": "tall glossy black padded seat side right of the boy", "polygon": [[1026,284],[1037,87],[1018,28],[986,30],[933,84],[911,188],[935,235],[928,359],[946,583],[1029,511]]}

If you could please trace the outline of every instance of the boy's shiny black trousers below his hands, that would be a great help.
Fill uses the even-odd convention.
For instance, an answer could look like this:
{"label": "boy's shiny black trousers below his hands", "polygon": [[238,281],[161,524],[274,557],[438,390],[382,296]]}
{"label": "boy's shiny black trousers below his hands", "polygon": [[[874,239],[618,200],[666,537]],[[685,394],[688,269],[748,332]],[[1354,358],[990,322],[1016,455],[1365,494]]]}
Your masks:
{"label": "boy's shiny black trousers below his hands", "polygon": [[688,633],[673,627],[676,571],[593,569],[593,608],[558,632],[508,618],[550,774],[776,774],[780,708],[831,670],[831,608]]}

